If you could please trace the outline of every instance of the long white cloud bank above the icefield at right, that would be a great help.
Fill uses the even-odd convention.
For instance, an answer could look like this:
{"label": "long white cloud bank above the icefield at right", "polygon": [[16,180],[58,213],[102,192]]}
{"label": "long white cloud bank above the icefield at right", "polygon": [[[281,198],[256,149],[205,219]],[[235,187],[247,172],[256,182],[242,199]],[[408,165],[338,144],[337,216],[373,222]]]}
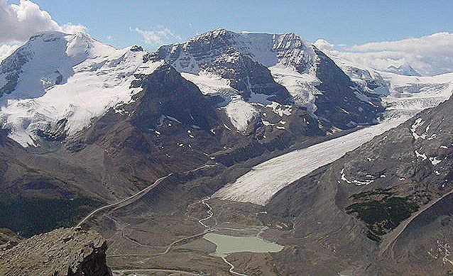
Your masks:
{"label": "long white cloud bank above the icefield at right", "polygon": [[453,33],[330,49],[324,48],[329,55],[386,72],[426,76],[453,72]]}

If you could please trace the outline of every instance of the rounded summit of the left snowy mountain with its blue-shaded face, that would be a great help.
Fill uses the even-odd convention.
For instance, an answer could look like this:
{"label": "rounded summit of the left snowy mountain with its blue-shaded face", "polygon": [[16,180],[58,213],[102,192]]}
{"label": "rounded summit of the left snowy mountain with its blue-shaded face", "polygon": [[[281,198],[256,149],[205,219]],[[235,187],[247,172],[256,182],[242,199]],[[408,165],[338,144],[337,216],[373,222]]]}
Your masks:
{"label": "rounded summit of the left snowy mountain with its blue-shaded face", "polygon": [[116,51],[84,33],[38,33],[1,62],[0,96],[13,92],[3,101],[41,96],[48,87],[66,82],[74,74],[73,66]]}

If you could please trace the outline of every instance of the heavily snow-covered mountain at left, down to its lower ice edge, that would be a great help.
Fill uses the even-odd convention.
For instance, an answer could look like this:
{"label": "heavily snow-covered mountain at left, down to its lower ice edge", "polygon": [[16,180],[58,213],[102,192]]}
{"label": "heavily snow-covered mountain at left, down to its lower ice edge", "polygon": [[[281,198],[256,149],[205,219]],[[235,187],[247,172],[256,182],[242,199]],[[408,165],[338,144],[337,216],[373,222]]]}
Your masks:
{"label": "heavily snow-covered mountain at left, down to its lower ice edge", "polygon": [[65,136],[89,126],[119,103],[131,101],[133,74],[162,62],[143,62],[138,47],[116,50],[84,33],[34,35],[0,65],[0,120],[21,145],[38,136]]}

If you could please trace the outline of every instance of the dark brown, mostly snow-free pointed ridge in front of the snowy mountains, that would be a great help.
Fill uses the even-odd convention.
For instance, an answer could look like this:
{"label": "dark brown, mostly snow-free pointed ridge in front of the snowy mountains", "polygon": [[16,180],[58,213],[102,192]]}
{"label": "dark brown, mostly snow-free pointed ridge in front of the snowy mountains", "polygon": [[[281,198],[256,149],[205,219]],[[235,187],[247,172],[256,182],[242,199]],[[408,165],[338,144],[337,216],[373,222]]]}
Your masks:
{"label": "dark brown, mostly snow-free pointed ridge in front of the snowy mountains", "polygon": [[169,65],[136,77],[131,85],[141,92],[131,103],[109,110],[65,145],[88,163],[90,155],[99,153],[112,197],[124,197],[169,172],[200,166],[223,150],[225,128],[194,84]]}

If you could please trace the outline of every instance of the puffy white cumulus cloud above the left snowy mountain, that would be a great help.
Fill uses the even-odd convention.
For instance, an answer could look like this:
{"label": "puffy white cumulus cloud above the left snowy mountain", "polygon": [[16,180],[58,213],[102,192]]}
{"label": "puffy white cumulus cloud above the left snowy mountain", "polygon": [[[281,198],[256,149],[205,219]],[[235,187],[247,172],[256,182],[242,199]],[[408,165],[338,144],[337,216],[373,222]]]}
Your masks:
{"label": "puffy white cumulus cloud above the left snowy mountain", "polygon": [[75,33],[86,31],[86,28],[72,23],[60,26],[47,11],[41,10],[32,1],[20,0],[18,4],[9,4],[7,0],[0,0],[0,44],[23,42],[39,31]]}

